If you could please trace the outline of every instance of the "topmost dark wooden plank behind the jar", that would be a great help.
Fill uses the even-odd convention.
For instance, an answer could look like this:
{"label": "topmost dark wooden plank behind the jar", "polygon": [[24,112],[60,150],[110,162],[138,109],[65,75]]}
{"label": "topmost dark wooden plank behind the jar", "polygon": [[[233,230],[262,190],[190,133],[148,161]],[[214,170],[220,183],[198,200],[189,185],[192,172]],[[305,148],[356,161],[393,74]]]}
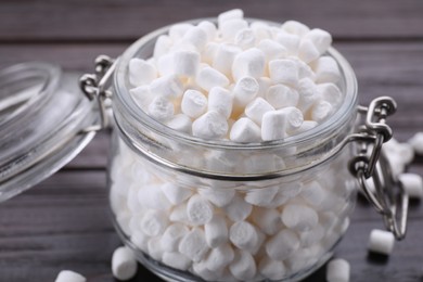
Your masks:
{"label": "topmost dark wooden plank behind the jar", "polygon": [[[2,1],[0,41],[105,41],[133,39],[158,27],[242,8],[249,17],[297,20],[343,39],[422,38],[419,0],[279,1],[130,0]],[[84,27],[82,27],[84,26]]]}

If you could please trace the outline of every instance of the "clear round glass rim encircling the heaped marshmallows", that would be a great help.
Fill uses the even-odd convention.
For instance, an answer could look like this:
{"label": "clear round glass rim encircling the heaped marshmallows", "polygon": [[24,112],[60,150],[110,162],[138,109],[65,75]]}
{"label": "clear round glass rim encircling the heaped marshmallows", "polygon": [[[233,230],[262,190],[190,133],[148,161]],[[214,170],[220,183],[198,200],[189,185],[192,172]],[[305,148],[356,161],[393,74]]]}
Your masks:
{"label": "clear round glass rim encircling the heaped marshmallows", "polygon": [[[280,25],[278,22],[271,22],[260,18],[245,18],[248,22],[260,21],[269,25]],[[179,22],[175,24],[197,24],[201,21],[211,21],[217,22],[217,18],[196,18],[184,22]],[[172,25],[175,25],[172,24]],[[357,78],[354,73],[352,67],[348,61],[333,47],[330,47],[326,54],[332,56],[338,64],[339,70],[343,77],[343,87],[344,100],[337,111],[326,120],[319,124],[315,128],[294,134],[284,139],[274,140],[274,141],[261,141],[256,143],[238,143],[230,140],[205,140],[202,138],[194,137],[192,134],[183,133],[175,129],[169,128],[165,124],[154,119],[143,112],[137,103],[132,100],[131,94],[129,93],[129,82],[128,82],[128,65],[129,61],[132,57],[137,57],[139,50],[146,44],[154,44],[155,40],[161,35],[166,35],[172,25],[168,25],[162,28],[158,28],[137,41],[134,41],[119,57],[119,62],[114,74],[114,89],[115,97],[119,102],[119,105],[123,106],[123,110],[130,115],[136,124],[142,124],[148,127],[150,130],[174,140],[178,140],[182,143],[190,143],[195,145],[208,146],[208,148],[218,148],[218,149],[229,149],[229,150],[257,150],[257,149],[273,149],[273,148],[290,148],[293,145],[298,145],[303,142],[309,142],[310,140],[318,140],[324,136],[328,136],[334,128],[342,127],[350,120],[350,117],[347,113],[356,111],[357,100],[358,100],[358,87]],[[146,57],[145,57],[146,59]]]}

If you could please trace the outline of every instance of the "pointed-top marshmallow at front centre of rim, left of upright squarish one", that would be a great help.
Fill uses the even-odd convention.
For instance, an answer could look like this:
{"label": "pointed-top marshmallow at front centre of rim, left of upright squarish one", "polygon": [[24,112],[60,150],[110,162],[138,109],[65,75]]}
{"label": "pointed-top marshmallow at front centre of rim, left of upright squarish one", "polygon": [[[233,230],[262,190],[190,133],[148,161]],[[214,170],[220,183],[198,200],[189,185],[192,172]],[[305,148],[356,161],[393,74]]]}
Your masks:
{"label": "pointed-top marshmallow at front centre of rim, left of upright squarish one", "polygon": [[253,120],[242,117],[232,125],[229,138],[239,143],[260,142],[261,130]]}

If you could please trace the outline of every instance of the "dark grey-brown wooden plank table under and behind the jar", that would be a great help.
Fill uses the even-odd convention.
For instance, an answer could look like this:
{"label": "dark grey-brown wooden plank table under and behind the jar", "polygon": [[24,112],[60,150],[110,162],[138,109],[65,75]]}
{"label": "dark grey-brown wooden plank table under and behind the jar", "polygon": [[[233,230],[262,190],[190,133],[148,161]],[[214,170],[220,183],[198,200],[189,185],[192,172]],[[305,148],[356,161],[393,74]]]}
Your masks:
{"label": "dark grey-brown wooden plank table under and behind the jar", "polygon": [[[255,0],[66,0],[0,2],[0,67],[47,61],[66,69],[91,72],[101,53],[116,56],[148,31],[175,22],[214,16],[243,8],[251,17],[298,20],[334,36],[350,62],[360,102],[392,95],[398,113],[389,123],[395,138],[423,131],[423,2],[255,1]],[[53,281],[62,269],[88,281],[115,281],[111,255],[120,243],[107,216],[105,166],[108,133],[101,132],[53,177],[0,205],[0,281]],[[1,140],[1,137],[0,137]],[[423,175],[423,158],[410,167]],[[351,266],[351,281],[422,281],[423,205],[410,206],[407,239],[388,258],[369,255],[381,216],[359,200],[351,226],[335,256]],[[325,267],[306,281],[324,281]],[[140,267],[131,281],[161,281]]]}

